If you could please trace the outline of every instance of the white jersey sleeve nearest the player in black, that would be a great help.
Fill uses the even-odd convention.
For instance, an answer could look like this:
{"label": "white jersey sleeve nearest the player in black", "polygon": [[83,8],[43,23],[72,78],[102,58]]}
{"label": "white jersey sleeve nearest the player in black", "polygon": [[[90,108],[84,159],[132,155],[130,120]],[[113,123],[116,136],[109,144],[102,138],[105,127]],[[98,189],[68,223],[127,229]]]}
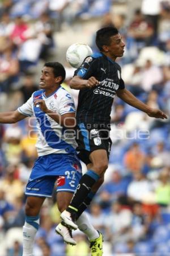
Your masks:
{"label": "white jersey sleeve nearest the player in black", "polygon": [[73,97],[66,90],[63,91],[59,100],[59,114],[75,113],[75,105]]}

